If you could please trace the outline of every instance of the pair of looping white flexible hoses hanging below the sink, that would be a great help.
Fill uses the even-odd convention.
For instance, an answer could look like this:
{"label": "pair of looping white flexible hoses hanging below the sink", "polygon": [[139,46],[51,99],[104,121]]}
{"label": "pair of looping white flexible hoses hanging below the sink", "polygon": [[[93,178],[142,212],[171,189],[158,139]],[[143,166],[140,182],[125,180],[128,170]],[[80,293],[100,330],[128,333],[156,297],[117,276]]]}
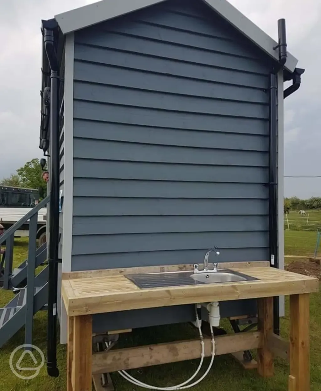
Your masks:
{"label": "pair of looping white flexible hoses hanging below the sink", "polygon": [[185,386],[185,384],[189,383],[191,380],[194,379],[194,377],[199,373],[200,369],[201,369],[201,366],[203,364],[203,361],[204,361],[204,339],[203,339],[203,334],[202,334],[202,330],[201,330],[201,323],[199,321],[199,317],[198,317],[198,314],[197,314],[197,310],[196,310],[196,323],[197,323],[197,327],[199,329],[199,335],[200,335],[200,338],[201,338],[201,346],[202,346],[202,353],[201,353],[201,361],[199,363],[199,366],[197,368],[197,370],[195,371],[194,375],[192,375],[192,377],[190,377],[188,380],[186,380],[185,382],[181,383],[181,384],[178,384],[176,386],[171,386],[171,387],[156,387],[156,386],[151,386],[149,384],[146,384],[146,383],[143,383],[141,382],[140,380],[134,378],[133,376],[129,375],[129,373],[127,373],[126,371],[118,371],[118,373],[124,378],[126,379],[127,381],[131,382],[132,384],[134,384],[135,386],[138,386],[138,387],[143,387],[143,388],[147,388],[147,389],[155,389],[155,390],[161,390],[161,391],[172,391],[172,390],[181,390],[181,389],[186,389],[186,388],[190,388],[190,387],[193,387],[195,386],[196,384],[198,384],[199,382],[201,382],[204,377],[206,377],[206,375],[208,374],[208,372],[210,371],[210,369],[212,368],[212,365],[213,365],[213,361],[214,361],[214,356],[215,356],[215,341],[214,341],[214,335],[213,335],[213,327],[212,325],[210,324],[210,330],[211,330],[211,339],[212,339],[212,358],[211,358],[211,361],[210,361],[210,364],[208,366],[208,368],[206,369],[205,373],[198,379],[196,380],[196,382],[192,383],[192,384],[188,384],[187,386]]}

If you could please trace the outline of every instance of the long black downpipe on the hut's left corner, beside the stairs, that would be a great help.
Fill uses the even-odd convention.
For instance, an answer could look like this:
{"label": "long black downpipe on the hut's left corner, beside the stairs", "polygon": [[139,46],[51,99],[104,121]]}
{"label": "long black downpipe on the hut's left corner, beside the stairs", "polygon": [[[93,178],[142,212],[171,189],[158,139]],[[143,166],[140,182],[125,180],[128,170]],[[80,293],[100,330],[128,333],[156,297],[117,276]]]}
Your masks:
{"label": "long black downpipe on the hut's left corner, beside the stairs", "polygon": [[45,29],[44,45],[50,66],[50,219],[48,256],[47,373],[59,376],[57,368],[57,278],[59,233],[59,65],[54,31]]}

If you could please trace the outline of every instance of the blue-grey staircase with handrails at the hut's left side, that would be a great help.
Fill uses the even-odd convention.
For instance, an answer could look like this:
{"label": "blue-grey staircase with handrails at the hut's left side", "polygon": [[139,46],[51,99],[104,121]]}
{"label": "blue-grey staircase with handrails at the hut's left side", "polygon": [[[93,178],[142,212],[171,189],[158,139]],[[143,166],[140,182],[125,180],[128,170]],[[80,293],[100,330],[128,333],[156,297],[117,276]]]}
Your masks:
{"label": "blue-grey staircase with handrails at the hut's left side", "polygon": [[[5,242],[5,257],[1,265],[2,289],[11,289],[16,294],[5,307],[0,308],[0,348],[18,330],[25,326],[25,344],[32,344],[33,316],[47,308],[48,266],[35,275],[36,268],[47,258],[47,243],[37,248],[38,212],[49,202],[50,196],[32,208],[0,237]],[[28,258],[13,269],[14,233],[29,220]]]}

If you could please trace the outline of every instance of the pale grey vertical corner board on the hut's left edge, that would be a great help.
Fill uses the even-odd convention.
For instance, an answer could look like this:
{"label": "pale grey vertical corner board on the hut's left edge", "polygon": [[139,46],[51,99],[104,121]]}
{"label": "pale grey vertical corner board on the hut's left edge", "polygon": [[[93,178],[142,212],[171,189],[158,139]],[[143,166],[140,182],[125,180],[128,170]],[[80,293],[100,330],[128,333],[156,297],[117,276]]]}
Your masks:
{"label": "pale grey vertical corner board on the hut's left edge", "polygon": [[[72,213],[74,178],[74,33],[66,35],[65,43],[65,166],[63,187],[63,256],[62,273],[71,271]],[[61,291],[58,292],[61,296]],[[61,300],[63,303],[63,300]],[[67,312],[60,308],[60,343],[67,343]]]}

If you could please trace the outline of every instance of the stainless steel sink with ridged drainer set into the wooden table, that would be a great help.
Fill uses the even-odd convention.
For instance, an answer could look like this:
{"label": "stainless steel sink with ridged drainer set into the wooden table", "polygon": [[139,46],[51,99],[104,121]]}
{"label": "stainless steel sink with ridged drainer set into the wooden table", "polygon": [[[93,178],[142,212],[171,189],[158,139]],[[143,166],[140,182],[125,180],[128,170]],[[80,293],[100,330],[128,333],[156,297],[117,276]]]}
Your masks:
{"label": "stainless steel sink with ridged drainer set into the wooden table", "polygon": [[258,278],[229,269],[218,269],[217,272],[210,273],[194,273],[192,271],[138,273],[125,274],[125,277],[141,289],[258,280]]}

